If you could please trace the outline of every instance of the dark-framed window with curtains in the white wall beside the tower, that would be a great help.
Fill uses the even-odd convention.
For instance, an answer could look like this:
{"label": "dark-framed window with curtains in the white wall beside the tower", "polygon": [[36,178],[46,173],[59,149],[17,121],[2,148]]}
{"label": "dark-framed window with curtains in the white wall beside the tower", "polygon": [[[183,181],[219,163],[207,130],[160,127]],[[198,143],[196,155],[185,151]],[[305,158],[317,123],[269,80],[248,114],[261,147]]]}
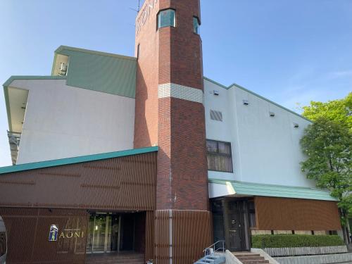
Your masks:
{"label": "dark-framed window with curtains in the white wall beside the tower", "polygon": [[231,143],[206,141],[208,170],[232,172]]}

